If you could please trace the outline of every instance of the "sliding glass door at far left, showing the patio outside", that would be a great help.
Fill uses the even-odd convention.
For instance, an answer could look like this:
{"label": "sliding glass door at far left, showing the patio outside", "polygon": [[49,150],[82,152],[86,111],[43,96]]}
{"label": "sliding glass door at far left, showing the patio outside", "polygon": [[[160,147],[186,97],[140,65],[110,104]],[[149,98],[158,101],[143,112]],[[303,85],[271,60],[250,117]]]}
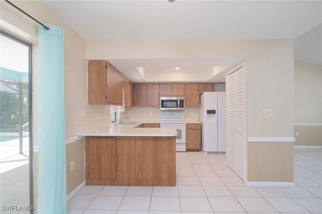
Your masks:
{"label": "sliding glass door at far left, showing the patio outside", "polygon": [[0,36],[0,212],[33,213],[32,45]]}

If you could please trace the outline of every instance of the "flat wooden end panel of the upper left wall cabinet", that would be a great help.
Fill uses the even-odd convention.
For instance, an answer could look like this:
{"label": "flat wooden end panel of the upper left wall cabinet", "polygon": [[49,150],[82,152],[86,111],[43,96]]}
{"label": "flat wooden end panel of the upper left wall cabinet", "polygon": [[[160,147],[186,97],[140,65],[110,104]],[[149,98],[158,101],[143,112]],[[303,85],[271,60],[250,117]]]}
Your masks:
{"label": "flat wooden end panel of the upper left wall cabinet", "polygon": [[90,60],[88,63],[88,104],[106,104],[105,61]]}

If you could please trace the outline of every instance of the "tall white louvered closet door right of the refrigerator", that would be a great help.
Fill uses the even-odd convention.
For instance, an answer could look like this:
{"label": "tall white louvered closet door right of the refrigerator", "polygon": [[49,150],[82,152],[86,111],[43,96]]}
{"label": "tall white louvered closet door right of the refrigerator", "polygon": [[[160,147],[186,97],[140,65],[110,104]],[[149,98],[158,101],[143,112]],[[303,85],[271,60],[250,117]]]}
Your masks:
{"label": "tall white louvered closet door right of the refrigerator", "polygon": [[228,167],[245,180],[245,66],[226,77]]}

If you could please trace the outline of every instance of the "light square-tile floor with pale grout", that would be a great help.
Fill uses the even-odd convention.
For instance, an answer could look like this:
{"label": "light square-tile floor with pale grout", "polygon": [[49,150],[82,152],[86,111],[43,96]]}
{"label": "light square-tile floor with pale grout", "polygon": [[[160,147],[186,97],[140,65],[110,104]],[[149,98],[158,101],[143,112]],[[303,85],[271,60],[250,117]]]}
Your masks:
{"label": "light square-tile floor with pale grout", "polygon": [[177,153],[177,186],[85,186],[68,213],[322,213],[322,149],[294,149],[295,187],[248,187],[224,161]]}

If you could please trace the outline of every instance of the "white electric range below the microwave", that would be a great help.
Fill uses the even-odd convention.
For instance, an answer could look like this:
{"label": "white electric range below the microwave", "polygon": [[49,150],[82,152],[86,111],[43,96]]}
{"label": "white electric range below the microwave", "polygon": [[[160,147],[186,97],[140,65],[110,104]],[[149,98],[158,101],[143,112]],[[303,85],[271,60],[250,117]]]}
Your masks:
{"label": "white electric range below the microwave", "polygon": [[178,132],[176,137],[176,151],[186,151],[185,113],[179,111],[162,111],[160,114],[160,127],[175,128]]}

